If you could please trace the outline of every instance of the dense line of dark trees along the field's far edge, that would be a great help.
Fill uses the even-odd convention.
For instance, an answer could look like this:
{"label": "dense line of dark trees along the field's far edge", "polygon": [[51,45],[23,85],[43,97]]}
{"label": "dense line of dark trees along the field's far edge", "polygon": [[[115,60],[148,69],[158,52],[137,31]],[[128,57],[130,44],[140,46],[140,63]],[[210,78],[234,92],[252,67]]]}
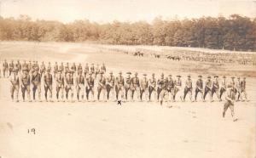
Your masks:
{"label": "dense line of dark trees along the field's far edge", "polygon": [[76,20],[59,21],[0,17],[2,41],[101,42],[126,45],[166,45],[177,47],[216,48],[256,51],[256,18],[238,14],[225,17],[98,24]]}

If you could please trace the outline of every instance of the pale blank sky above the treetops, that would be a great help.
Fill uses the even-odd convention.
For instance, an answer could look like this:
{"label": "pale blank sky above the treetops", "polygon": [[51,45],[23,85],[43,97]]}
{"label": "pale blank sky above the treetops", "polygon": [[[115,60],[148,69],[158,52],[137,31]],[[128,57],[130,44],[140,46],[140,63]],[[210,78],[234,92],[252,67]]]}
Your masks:
{"label": "pale blank sky above the treetops", "polygon": [[156,16],[163,19],[198,18],[241,14],[256,17],[256,0],[0,0],[3,17],[27,14],[33,20],[88,19],[96,22],[151,22]]}

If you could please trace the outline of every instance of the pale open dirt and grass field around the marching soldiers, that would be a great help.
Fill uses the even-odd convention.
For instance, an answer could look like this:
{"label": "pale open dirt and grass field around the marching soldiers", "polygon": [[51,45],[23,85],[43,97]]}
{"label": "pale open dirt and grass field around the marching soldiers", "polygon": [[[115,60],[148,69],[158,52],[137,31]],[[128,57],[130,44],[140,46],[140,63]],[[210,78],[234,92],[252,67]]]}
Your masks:
{"label": "pale open dirt and grass field around the marching soldiers", "polygon": [[[230,110],[223,118],[224,100],[213,102],[53,102],[11,101],[9,78],[0,78],[0,158],[254,158],[256,155],[256,67],[232,63],[211,63],[137,57],[113,51],[144,48],[161,52],[181,48],[149,46],[108,46],[68,42],[0,42],[1,66],[4,59],[55,61],[107,66],[119,71],[143,73],[156,78],[218,75],[247,77],[246,102],[235,102],[233,121]],[[186,51],[207,49],[186,48]],[[218,50],[211,50],[217,52]],[[146,53],[145,53],[146,54]],[[161,52],[165,54],[165,52]],[[245,54],[245,53],[241,53]],[[225,58],[225,57],[224,57]],[[2,73],[2,68],[1,68]],[[193,96],[195,91],[193,91]]]}

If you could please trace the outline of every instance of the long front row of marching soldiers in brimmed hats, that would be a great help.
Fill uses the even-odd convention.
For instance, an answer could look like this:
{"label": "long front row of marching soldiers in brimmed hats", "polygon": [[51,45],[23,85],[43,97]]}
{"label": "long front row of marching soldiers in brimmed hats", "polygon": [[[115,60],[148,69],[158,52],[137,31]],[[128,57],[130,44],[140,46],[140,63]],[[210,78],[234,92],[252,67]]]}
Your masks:
{"label": "long front row of marching soldiers in brimmed hats", "polygon": [[[103,67],[103,66],[102,66]],[[11,98],[18,101],[18,93],[21,87],[22,98],[25,100],[25,94],[27,94],[28,100],[30,99],[30,89],[32,88],[33,99],[36,99],[36,92],[38,92],[38,99],[41,100],[41,85],[44,85],[44,97],[46,100],[52,100],[53,83],[55,82],[55,92],[57,100],[64,100],[64,90],[66,93],[66,99],[73,101],[74,89],[76,89],[77,99],[80,100],[94,100],[95,91],[98,100],[134,100],[137,95],[137,100],[158,100],[160,104],[167,98],[171,101],[181,99],[185,101],[186,96],[189,95],[190,101],[196,101],[198,93],[201,93],[201,99],[206,100],[209,93],[210,100],[214,93],[216,93],[218,100],[222,99],[226,91],[228,82],[226,77],[223,77],[221,85],[218,83],[218,76],[214,76],[214,80],[211,80],[211,76],[207,76],[205,86],[203,84],[202,76],[198,76],[198,80],[195,84],[195,98],[192,99],[193,85],[190,76],[188,76],[185,85],[183,87],[181,76],[177,76],[176,79],[172,79],[172,75],[165,77],[161,74],[157,80],[152,74],[147,78],[147,74],[143,74],[143,78],[139,79],[137,73],[131,77],[131,72],[127,72],[127,76],[122,76],[122,72],[119,72],[118,76],[113,76],[113,72],[106,75],[106,66],[98,74],[96,71],[86,73],[83,69],[77,71],[63,71],[58,69],[54,75],[51,74],[51,69],[47,68],[47,71],[38,69],[38,67],[32,68],[30,71],[27,66],[22,66],[22,73],[19,69],[15,68],[11,71],[9,77],[11,82]],[[19,75],[20,74],[20,75]],[[77,74],[77,75],[76,75]],[[246,93],[246,78],[242,81],[237,77],[231,77],[230,85],[236,92],[236,100],[247,99]],[[136,94],[136,95],[135,95]],[[90,99],[91,95],[92,99]],[[153,98],[154,95],[154,98]],[[102,99],[100,97],[102,96]]]}

